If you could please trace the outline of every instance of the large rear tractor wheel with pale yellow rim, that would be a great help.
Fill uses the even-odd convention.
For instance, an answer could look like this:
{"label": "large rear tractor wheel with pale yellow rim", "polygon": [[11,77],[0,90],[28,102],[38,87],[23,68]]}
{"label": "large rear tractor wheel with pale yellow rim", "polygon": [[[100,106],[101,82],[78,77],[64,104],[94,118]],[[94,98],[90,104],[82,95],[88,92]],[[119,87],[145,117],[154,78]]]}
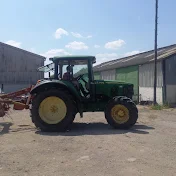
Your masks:
{"label": "large rear tractor wheel with pale yellow rim", "polygon": [[73,97],[64,90],[40,92],[32,100],[32,122],[41,131],[66,131],[76,113]]}

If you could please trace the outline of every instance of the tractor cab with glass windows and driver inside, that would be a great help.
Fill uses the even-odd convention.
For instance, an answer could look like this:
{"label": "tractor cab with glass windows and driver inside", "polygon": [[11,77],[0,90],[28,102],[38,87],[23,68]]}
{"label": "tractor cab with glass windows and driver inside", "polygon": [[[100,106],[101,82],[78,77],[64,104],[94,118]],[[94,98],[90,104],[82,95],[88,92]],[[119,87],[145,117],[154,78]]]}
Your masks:
{"label": "tractor cab with glass windows and driver inside", "polygon": [[[94,56],[62,56],[49,59],[51,64],[38,68],[45,74],[49,73],[45,80],[60,80],[70,82],[80,92],[82,98],[90,99],[91,85],[93,82],[92,65]],[[51,74],[52,73],[52,74]]]}

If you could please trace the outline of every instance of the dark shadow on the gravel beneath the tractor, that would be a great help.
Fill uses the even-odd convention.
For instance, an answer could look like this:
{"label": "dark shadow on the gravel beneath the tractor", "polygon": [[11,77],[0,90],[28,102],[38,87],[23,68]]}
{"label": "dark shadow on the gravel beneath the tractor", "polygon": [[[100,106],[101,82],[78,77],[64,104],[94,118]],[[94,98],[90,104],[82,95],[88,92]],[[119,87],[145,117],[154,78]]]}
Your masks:
{"label": "dark shadow on the gravel beneath the tractor", "polygon": [[136,124],[128,130],[118,130],[109,127],[105,123],[73,123],[71,130],[67,132],[41,132],[36,131],[36,134],[48,136],[82,136],[82,135],[114,135],[114,134],[149,134],[148,130],[154,129],[143,124]]}

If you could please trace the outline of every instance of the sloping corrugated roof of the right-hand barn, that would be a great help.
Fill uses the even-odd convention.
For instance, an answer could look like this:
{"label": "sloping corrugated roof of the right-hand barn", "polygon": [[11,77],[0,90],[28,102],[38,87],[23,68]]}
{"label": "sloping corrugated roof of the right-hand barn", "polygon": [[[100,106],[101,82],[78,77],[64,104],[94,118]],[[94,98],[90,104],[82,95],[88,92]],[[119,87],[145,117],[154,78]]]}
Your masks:
{"label": "sloping corrugated roof of the right-hand barn", "polygon": [[[160,61],[162,59],[166,59],[174,54],[176,54],[176,44],[158,48],[157,60]],[[104,71],[132,65],[142,65],[145,63],[153,62],[154,57],[155,57],[154,50],[142,52],[136,55],[101,63],[94,67],[94,71]]]}

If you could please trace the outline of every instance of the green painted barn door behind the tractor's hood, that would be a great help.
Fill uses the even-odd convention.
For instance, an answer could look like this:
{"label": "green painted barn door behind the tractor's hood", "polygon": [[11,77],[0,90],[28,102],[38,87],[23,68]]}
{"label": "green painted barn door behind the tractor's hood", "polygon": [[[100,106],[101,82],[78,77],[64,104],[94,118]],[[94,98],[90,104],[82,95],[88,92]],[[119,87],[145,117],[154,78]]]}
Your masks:
{"label": "green painted barn door behind the tractor's hood", "polygon": [[139,93],[139,79],[138,66],[130,66],[116,69],[116,80],[122,82],[132,83],[134,85],[133,100],[138,101]]}

